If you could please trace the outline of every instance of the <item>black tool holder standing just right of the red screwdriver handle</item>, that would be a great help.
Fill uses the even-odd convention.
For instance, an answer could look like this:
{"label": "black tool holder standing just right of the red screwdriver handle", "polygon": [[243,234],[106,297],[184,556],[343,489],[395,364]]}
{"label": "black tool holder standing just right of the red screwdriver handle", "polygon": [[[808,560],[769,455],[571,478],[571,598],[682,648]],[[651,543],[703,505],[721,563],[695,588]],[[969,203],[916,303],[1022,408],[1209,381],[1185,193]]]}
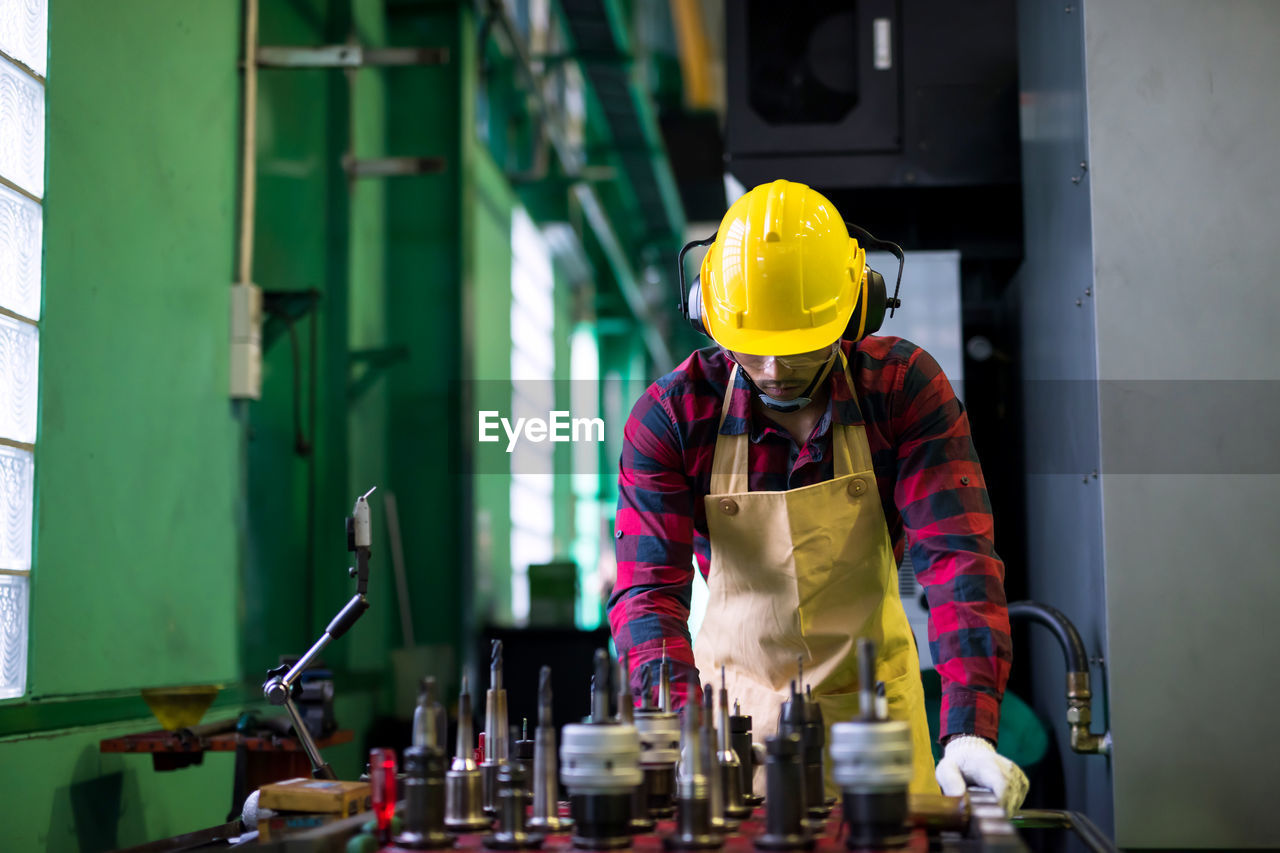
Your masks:
{"label": "black tool holder standing just right of the red screwdriver handle", "polygon": [[438,850],[453,847],[453,838],[444,831],[444,751],[440,748],[444,733],[439,730],[442,708],[435,701],[435,679],[424,679],[422,693],[413,712],[413,742],[404,751],[404,829],[396,836],[396,845],[399,848]]}

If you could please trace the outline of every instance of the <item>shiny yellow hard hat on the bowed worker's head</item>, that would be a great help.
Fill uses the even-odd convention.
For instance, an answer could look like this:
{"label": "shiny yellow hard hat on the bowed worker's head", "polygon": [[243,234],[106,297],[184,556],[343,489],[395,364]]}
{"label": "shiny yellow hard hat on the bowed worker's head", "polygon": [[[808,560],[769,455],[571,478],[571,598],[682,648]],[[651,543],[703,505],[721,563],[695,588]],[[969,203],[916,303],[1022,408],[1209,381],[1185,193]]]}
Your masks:
{"label": "shiny yellow hard hat on the bowed worker's head", "polygon": [[717,343],[791,355],[845,334],[865,298],[867,251],[820,192],[790,181],[760,184],[733,202],[716,234],[703,257],[700,314]]}

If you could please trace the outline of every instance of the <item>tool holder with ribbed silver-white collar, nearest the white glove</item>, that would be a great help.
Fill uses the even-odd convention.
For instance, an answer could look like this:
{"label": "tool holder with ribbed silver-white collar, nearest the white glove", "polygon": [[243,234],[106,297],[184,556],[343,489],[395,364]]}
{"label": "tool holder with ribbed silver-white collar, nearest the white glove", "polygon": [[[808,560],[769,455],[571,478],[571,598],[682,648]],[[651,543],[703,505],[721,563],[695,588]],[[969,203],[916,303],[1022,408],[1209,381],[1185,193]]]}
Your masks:
{"label": "tool holder with ribbed silver-white collar, nearest the white glove", "polygon": [[876,708],[876,644],[858,640],[861,719],[831,727],[831,758],[844,793],[851,849],[896,849],[910,840],[908,788],[911,784],[911,730]]}

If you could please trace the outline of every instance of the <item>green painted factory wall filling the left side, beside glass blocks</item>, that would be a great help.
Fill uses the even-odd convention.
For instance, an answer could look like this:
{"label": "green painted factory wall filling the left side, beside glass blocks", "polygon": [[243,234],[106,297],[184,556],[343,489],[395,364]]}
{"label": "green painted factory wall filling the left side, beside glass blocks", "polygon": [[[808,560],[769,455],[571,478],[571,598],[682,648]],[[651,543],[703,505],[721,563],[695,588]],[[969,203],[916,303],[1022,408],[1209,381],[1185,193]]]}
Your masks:
{"label": "green painted factory wall filling the left side, beside glass blocks", "polygon": [[[0,702],[6,850],[110,849],[224,820],[229,754],[157,774],[97,743],[156,727],[142,686],[219,684],[209,719],[260,707],[264,671],[305,651],[353,592],[342,520],[370,485],[372,606],[325,654],[338,720],[356,731],[326,752],[339,775],[358,774],[370,744],[404,736],[398,678],[434,672],[448,690],[468,638],[509,613],[507,478],[470,474],[471,437],[485,394],[509,406],[511,213],[562,218],[568,183],[553,169],[516,186],[506,172],[530,165],[509,65],[485,95],[490,127],[509,132],[477,138],[470,4],[261,0],[262,44],[355,35],[448,47],[449,61],[349,78],[260,72],[253,279],[296,305],[312,291],[317,301],[294,321],[296,351],[287,325],[270,324],[261,401],[232,402],[241,23],[228,0],[50,0],[29,690]],[[591,128],[600,140],[598,117]],[[352,182],[348,151],[445,168]],[[584,319],[564,284],[558,379]],[[602,357],[626,339],[634,348],[623,336]],[[605,453],[604,492],[616,459]],[[559,479],[567,553],[577,530]],[[401,651],[388,493],[412,652]]]}

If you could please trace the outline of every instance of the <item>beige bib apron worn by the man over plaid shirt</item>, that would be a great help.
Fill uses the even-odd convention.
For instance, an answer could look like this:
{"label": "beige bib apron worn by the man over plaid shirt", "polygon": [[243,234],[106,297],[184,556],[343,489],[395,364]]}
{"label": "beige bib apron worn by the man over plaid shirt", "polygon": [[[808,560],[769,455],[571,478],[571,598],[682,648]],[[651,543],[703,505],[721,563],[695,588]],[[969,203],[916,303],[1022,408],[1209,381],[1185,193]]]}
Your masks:
{"label": "beige bib apron worn by the man over plaid shirt", "polygon": [[[844,369],[847,380],[847,364]],[[735,366],[722,425],[736,377]],[[763,743],[777,734],[778,711],[803,657],[805,683],[828,726],[827,794],[836,795],[829,729],[859,713],[855,643],[874,640],[890,716],[911,726],[911,793],[937,794],[920,665],[897,593],[867,430],[861,424],[832,428],[835,476],[787,492],[748,491],[748,434],[717,437],[705,497],[710,597],[694,661],[708,684],[718,684],[726,667],[730,701],[751,715],[753,740]],[[764,790],[763,768],[755,785]]]}

